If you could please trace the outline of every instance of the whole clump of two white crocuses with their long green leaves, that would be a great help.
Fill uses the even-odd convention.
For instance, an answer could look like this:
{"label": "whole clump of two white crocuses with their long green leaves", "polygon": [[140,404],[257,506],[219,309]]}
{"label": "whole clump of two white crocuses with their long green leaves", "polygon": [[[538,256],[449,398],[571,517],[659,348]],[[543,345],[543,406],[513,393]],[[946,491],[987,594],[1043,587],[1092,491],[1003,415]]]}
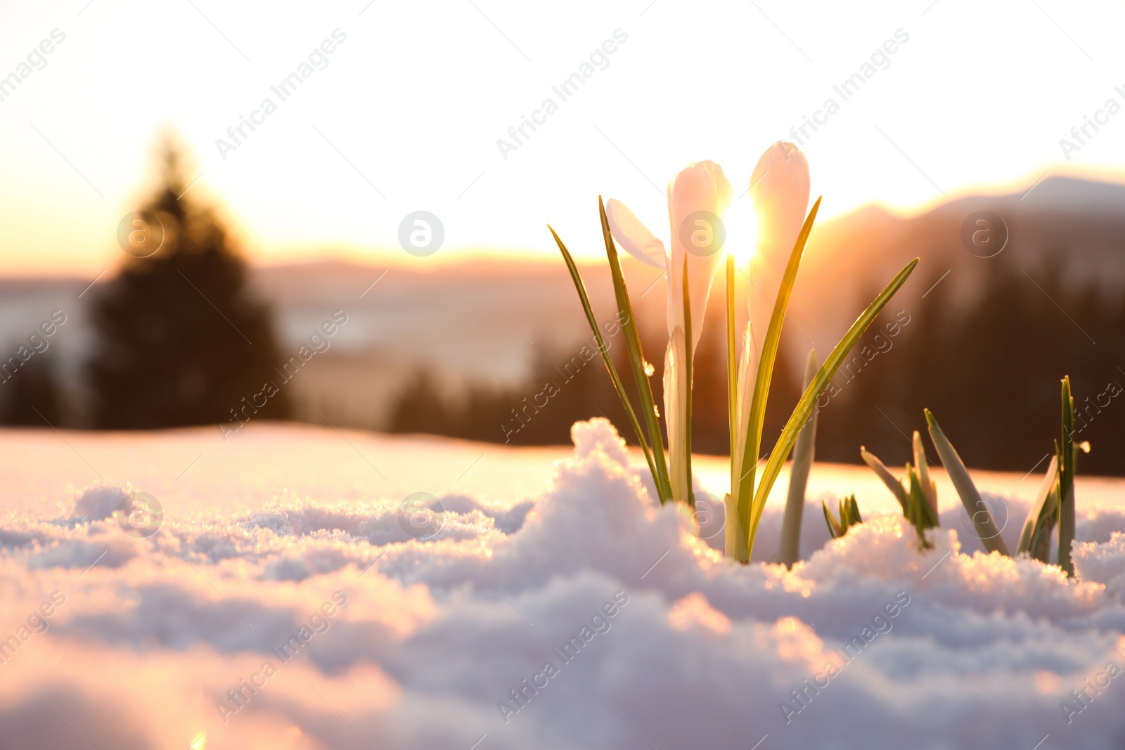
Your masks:
{"label": "whole clump of two white crocuses with their long green leaves", "polygon": [[[748,192],[757,215],[758,233],[750,266],[745,270],[749,280],[749,322],[741,336],[740,354],[736,347],[734,314],[735,260],[729,252],[726,254],[728,424],[732,448],[731,491],[726,503],[726,549],[728,557],[744,562],[749,560],[755,530],[770,488],[798,434],[812,416],[817,398],[856,340],[917,264],[915,260],[902,269],[856,319],[816,376],[809,379],[801,400],[760,475],[756,477],[765,405],[781,340],[782,322],[819,200],[806,217],[809,204],[808,162],[794,145],[784,142],[772,145],[758,160]],[[667,245],[621,201],[611,199],[604,207],[600,201],[605,251],[613,275],[619,314],[621,319],[629,322],[623,327],[641,404],[640,418],[626,395],[624,383],[601,338],[577,266],[562,241],[551,231],[574,279],[587,322],[602,349],[614,388],[637,433],[662,503],[694,505],[691,471],[692,362],[702,337],[708,297],[723,260],[726,228],[721,215],[730,206],[731,195],[730,183],[718,164],[704,161],[684,168],[668,183],[670,237]],[[640,350],[640,338],[621,273],[616,245],[667,275],[668,344],[664,365],[667,462],[648,380],[652,368]],[[666,247],[670,247],[670,251]],[[796,525],[800,525],[799,521]]]}

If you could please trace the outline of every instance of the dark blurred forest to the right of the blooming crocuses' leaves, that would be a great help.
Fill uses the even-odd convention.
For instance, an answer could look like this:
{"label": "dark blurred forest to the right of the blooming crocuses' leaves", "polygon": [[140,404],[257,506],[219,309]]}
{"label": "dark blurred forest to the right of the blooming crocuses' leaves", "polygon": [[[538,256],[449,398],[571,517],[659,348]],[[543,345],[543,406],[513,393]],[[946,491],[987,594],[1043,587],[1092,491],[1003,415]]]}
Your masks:
{"label": "dark blurred forest to the right of the blooming crocuses' leaves", "polygon": [[950,286],[934,288],[901,341],[821,410],[817,458],[854,463],[865,444],[904,463],[929,408],[968,466],[1029,471],[1060,439],[1069,374],[1074,437],[1092,446],[1079,471],[1125,475],[1125,297],[1064,283],[1062,257],[1034,280],[1002,254],[989,259],[980,295],[960,310]]}

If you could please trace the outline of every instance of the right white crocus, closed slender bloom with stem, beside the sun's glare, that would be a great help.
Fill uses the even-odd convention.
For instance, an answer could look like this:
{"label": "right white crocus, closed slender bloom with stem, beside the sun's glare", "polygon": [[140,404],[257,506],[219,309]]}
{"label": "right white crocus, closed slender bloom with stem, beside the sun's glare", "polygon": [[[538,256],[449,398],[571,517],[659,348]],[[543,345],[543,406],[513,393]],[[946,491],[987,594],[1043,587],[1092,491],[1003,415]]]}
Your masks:
{"label": "right white crocus, closed slender bloom with stem, beside the sun's glare", "polygon": [[[738,431],[737,444],[731,453],[732,493],[737,481],[746,473],[741,461],[762,344],[789,256],[801,233],[809,207],[809,163],[804,154],[784,141],[766,148],[750,177],[749,193],[757,216],[757,245],[748,269],[747,305],[750,320],[746,326],[738,363]],[[737,528],[737,524],[728,526]],[[728,544],[732,541],[728,537]]]}

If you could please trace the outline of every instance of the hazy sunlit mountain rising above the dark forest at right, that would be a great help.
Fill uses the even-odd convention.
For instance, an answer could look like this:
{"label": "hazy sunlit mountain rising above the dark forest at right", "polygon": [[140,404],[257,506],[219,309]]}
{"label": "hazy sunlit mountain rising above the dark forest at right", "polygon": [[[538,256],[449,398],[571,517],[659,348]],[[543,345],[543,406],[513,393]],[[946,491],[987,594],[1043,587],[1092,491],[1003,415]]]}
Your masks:
{"label": "hazy sunlit mountain rising above the dark forest at right", "polygon": [[[1061,273],[1066,286],[1095,282],[1104,293],[1125,286],[1125,186],[1046,178],[1019,193],[957,198],[902,218],[865,207],[813,231],[791,301],[792,317],[830,346],[863,306],[912,257],[920,262],[891,307],[909,307],[946,272],[942,283],[961,306],[981,288],[990,263],[1014,264],[1043,286]],[[1008,227],[996,257],[979,257],[961,241],[962,225],[989,210]],[[807,342],[806,342],[807,344]]]}

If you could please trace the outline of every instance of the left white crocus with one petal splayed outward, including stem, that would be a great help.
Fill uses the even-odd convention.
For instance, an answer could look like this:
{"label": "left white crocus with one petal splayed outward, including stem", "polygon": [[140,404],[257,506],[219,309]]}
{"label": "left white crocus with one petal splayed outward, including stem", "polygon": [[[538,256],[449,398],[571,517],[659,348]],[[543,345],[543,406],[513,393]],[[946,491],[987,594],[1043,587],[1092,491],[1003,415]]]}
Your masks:
{"label": "left white crocus with one petal splayed outward, including stem", "polygon": [[[668,182],[668,224],[672,234],[670,256],[664,243],[649,232],[637,216],[619,200],[606,205],[613,238],[630,255],[668,274],[668,349],[664,364],[664,409],[668,427],[672,496],[687,501],[691,495],[687,476],[687,382],[688,356],[694,359],[703,333],[703,315],[711,293],[711,281],[722,259],[726,231],[719,217],[730,205],[730,182],[714,162],[688,164]],[[684,325],[684,263],[687,265],[687,295],[691,302],[691,343],[686,351]]]}

